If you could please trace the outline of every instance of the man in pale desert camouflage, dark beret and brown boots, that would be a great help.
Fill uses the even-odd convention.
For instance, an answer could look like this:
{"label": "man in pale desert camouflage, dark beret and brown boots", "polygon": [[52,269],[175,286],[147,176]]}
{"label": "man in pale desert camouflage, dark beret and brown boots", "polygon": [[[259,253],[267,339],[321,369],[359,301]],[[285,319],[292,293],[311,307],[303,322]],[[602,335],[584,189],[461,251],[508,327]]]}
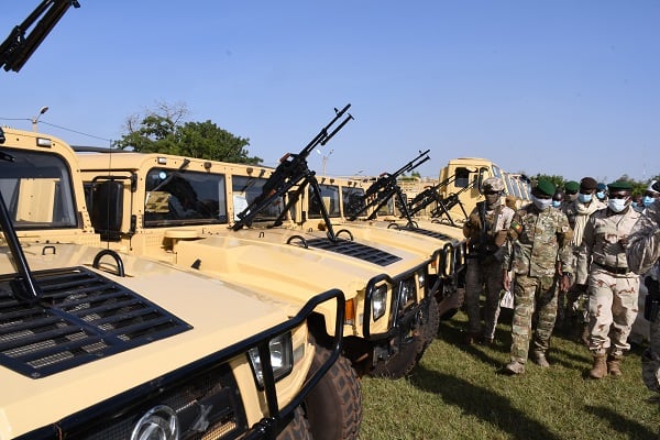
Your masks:
{"label": "man in pale desert camouflage, dark beret and brown boots", "polygon": [[588,349],[594,358],[588,375],[593,378],[622,375],[639,289],[639,276],[626,262],[628,235],[639,219],[630,207],[632,185],[619,180],[607,189],[607,208],[592,213],[584,227],[575,279],[588,293]]}

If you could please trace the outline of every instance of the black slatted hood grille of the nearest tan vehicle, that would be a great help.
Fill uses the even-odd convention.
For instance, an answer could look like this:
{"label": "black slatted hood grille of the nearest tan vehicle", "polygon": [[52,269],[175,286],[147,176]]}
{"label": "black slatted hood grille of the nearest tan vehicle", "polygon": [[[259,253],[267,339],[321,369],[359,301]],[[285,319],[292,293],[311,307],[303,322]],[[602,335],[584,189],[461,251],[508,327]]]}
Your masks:
{"label": "black slatted hood grille of the nearest tan vehicle", "polygon": [[0,276],[0,365],[45,377],[191,329],[128,288],[85,267],[34,272],[43,296],[16,299]]}

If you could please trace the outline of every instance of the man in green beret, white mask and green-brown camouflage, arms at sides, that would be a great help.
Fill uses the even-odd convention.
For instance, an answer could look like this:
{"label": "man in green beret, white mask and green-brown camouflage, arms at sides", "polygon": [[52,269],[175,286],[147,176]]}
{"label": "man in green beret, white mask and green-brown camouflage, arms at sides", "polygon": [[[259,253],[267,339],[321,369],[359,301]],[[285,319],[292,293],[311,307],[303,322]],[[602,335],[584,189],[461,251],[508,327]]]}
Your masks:
{"label": "man in green beret, white mask and green-brown camouflage, arms at sides", "polygon": [[550,366],[546,352],[557,316],[557,283],[565,290],[572,276],[571,248],[568,245],[572,231],[566,216],[550,208],[553,194],[554,185],[539,179],[531,190],[532,202],[516,211],[509,228],[510,245],[505,255],[503,277],[505,289],[510,288],[510,262],[515,274],[515,305],[510,362],[504,367],[507,374],[525,373],[532,312],[538,314],[538,319],[531,360],[542,367]]}

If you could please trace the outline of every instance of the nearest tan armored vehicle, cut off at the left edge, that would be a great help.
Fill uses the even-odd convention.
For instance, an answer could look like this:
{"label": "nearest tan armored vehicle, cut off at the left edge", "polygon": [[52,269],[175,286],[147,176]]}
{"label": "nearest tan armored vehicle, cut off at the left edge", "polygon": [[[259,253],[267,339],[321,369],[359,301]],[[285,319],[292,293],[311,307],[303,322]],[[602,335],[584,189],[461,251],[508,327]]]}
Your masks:
{"label": "nearest tan armored vehicle, cut off at the left edge", "polygon": [[100,248],[54,138],[0,130],[0,438],[356,437],[340,290],[292,306]]}

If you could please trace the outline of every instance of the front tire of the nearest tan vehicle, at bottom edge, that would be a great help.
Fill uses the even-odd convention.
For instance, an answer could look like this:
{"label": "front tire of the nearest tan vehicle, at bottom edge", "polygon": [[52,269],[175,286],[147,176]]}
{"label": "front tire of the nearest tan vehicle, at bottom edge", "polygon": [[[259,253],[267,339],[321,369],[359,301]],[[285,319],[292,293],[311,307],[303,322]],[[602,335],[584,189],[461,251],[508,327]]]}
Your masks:
{"label": "front tire of the nearest tan vehicle, at bottom edge", "polygon": [[[312,371],[331,352],[317,345]],[[362,424],[362,391],[351,363],[339,356],[328,373],[305,398],[311,436],[315,440],[358,439]]]}

